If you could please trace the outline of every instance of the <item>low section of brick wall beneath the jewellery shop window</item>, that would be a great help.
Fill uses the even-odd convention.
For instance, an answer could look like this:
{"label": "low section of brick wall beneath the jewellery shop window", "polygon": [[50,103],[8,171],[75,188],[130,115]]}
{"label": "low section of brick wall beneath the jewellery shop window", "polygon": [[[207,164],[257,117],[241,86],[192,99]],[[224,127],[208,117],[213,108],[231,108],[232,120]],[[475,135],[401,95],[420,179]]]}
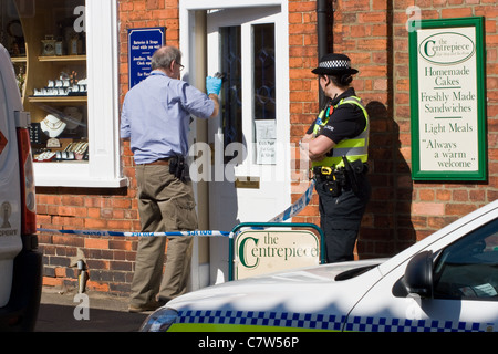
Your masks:
{"label": "low section of brick wall beneath the jewellery shop window", "polygon": [[[139,230],[134,191],[37,188],[38,223],[49,229]],[[134,240],[40,233],[45,285],[74,288],[76,262],[90,270],[87,288],[127,292],[136,249]]]}

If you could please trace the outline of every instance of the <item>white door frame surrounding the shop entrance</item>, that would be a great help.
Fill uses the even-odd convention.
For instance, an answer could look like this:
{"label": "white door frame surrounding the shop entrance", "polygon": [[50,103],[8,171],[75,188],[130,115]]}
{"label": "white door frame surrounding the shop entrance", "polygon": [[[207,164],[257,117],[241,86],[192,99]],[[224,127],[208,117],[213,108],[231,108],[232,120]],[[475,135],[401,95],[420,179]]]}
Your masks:
{"label": "white door frame surrounding the shop entrance", "polygon": [[[207,63],[199,63],[199,60],[206,59],[206,43],[199,45],[199,32],[204,31],[206,27],[205,21],[199,21],[199,12],[217,9],[234,9],[234,8],[263,8],[263,7],[280,7],[281,12],[279,14],[279,20],[276,22],[276,50],[282,53],[279,64],[277,81],[281,84],[278,91],[277,100],[282,102],[281,107],[283,107],[278,113],[278,119],[284,123],[280,125],[280,129],[284,132],[286,144],[290,139],[290,119],[289,117],[289,22],[288,22],[288,1],[287,0],[180,0],[179,1],[179,25],[180,25],[180,50],[184,54],[183,64],[185,65],[184,79],[190,84],[198,88],[203,88],[205,83],[204,79],[206,75]],[[207,33],[206,33],[207,38]],[[212,73],[211,73],[212,74]],[[194,142],[206,142],[206,125],[203,122],[195,121],[193,124],[191,143]],[[280,138],[281,136],[279,136]],[[287,146],[287,145],[286,145]],[[286,153],[289,157],[289,162],[284,164],[284,170],[280,171],[286,178],[282,180],[282,187],[287,191],[286,199],[282,202],[288,206],[291,201],[291,180],[290,180],[290,150]],[[198,212],[205,215],[207,208],[209,208],[209,201],[204,200],[201,196],[206,196],[206,185],[195,184],[194,186]],[[283,209],[282,209],[283,210]],[[278,210],[279,214],[282,210]],[[268,219],[274,217],[274,215],[269,215]],[[255,220],[256,221],[256,220]],[[208,223],[201,223],[200,229],[209,228]],[[224,230],[230,231],[230,230]],[[191,272],[191,288],[193,290],[209,285],[210,283],[220,282],[218,279],[212,279],[209,275],[209,257],[207,257],[206,263],[206,252],[207,246],[203,240],[196,240],[194,249],[193,259],[193,272]],[[228,256],[228,248],[227,248]],[[228,257],[227,257],[228,258]],[[226,277],[221,277],[224,281]]]}

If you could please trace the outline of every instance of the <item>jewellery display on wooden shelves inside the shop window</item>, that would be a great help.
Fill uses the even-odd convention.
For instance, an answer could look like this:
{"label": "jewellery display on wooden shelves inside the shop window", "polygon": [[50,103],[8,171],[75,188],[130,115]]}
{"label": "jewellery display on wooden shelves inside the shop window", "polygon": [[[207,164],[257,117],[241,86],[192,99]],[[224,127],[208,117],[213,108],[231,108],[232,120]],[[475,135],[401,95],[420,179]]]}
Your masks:
{"label": "jewellery display on wooden shelves inside the shop window", "polygon": [[31,113],[34,162],[87,163],[85,0],[30,3],[0,0],[0,40]]}

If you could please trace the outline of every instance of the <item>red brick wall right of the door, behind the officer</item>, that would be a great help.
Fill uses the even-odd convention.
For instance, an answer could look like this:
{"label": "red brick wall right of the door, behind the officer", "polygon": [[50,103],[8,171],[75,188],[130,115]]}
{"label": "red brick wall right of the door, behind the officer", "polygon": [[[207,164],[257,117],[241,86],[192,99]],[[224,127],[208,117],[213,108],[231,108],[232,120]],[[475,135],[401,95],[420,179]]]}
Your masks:
{"label": "red brick wall right of the door, behind the officer", "polygon": [[[311,2],[305,8],[301,8],[301,1],[289,3],[293,35],[290,41],[291,121],[295,142],[318,110],[318,83],[308,75],[317,65],[317,43],[292,28],[310,28],[315,23],[305,21],[315,20]],[[421,8],[422,19],[486,17],[489,164],[486,183],[412,181],[408,32],[405,29],[408,18],[405,10],[411,6]],[[336,1],[334,51],[349,54],[353,66],[360,70],[353,85],[367,106],[372,124],[373,196],[361,230],[359,258],[392,256],[498,197],[497,14],[495,0]],[[297,191],[294,198],[298,195]],[[318,222],[313,201],[297,219]]]}

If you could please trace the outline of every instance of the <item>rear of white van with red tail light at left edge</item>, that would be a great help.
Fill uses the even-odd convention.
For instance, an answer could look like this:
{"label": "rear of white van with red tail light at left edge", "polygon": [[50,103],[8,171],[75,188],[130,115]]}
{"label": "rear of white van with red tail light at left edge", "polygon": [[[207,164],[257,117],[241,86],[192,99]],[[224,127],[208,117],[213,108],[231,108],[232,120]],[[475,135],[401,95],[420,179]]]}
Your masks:
{"label": "rear of white van with red tail light at left edge", "polygon": [[0,331],[33,331],[42,288],[30,115],[0,44]]}

